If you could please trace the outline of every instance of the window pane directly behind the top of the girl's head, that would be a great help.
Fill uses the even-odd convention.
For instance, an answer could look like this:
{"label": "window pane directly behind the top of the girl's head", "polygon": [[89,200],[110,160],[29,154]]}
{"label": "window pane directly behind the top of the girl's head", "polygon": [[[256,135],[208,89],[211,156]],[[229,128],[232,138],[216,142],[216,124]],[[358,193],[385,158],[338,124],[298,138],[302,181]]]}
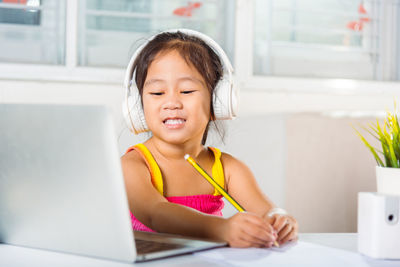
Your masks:
{"label": "window pane directly behind the top of the girl's head", "polygon": [[214,38],[233,55],[234,1],[86,0],[79,8],[79,65],[126,67],[146,38],[189,28]]}

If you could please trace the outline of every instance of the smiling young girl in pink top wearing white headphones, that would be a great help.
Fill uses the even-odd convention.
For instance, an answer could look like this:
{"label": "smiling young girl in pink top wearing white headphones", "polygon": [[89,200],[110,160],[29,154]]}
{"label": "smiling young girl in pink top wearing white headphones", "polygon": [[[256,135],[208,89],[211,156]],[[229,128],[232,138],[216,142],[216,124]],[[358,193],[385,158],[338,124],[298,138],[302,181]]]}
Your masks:
{"label": "smiling young girl in pink top wearing white headphones", "polygon": [[[122,157],[134,230],[218,239],[232,247],[271,247],[297,239],[296,220],[261,192],[249,168],[204,146],[210,123],[223,118],[226,99],[218,90],[231,88],[229,64],[215,42],[190,30],[162,32],[132,57],[125,116],[136,133],[152,133]],[[223,218],[222,196],[185,154],[247,212]]]}

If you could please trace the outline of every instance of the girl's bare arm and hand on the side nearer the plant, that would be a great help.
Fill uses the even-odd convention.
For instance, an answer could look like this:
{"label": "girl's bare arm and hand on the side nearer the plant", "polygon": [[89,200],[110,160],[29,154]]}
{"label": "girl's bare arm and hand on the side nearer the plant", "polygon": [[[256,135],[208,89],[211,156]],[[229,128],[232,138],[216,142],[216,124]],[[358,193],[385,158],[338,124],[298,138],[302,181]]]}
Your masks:
{"label": "girl's bare arm and hand on the side nearer the plant", "polygon": [[298,224],[295,218],[288,214],[268,213],[276,208],[275,204],[261,191],[251,170],[240,160],[229,154],[223,153],[222,164],[226,179],[226,188],[229,194],[246,211],[265,218],[278,233],[278,242],[297,239]]}

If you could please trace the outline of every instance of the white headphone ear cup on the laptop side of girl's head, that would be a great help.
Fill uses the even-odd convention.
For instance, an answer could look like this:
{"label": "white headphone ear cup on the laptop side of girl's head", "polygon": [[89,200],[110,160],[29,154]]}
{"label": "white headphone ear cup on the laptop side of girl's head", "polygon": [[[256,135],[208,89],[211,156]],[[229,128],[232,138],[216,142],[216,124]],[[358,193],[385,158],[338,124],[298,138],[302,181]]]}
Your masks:
{"label": "white headphone ear cup on the laptop side of girl's head", "polygon": [[136,86],[132,85],[129,89],[131,94],[127,94],[123,106],[123,114],[128,128],[135,134],[149,131],[142,103],[140,101],[139,90]]}

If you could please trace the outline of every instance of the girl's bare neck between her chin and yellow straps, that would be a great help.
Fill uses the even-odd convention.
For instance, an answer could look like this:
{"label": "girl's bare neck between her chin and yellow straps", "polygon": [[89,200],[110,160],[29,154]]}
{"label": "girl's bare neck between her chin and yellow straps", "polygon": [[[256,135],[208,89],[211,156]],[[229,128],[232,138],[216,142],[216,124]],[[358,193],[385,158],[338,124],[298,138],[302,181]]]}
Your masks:
{"label": "girl's bare neck between her chin and yellow straps", "polygon": [[153,153],[157,153],[167,160],[184,160],[184,156],[189,154],[190,156],[197,158],[202,151],[204,151],[204,146],[201,143],[188,142],[184,144],[170,144],[151,137],[145,142],[146,146]]}

